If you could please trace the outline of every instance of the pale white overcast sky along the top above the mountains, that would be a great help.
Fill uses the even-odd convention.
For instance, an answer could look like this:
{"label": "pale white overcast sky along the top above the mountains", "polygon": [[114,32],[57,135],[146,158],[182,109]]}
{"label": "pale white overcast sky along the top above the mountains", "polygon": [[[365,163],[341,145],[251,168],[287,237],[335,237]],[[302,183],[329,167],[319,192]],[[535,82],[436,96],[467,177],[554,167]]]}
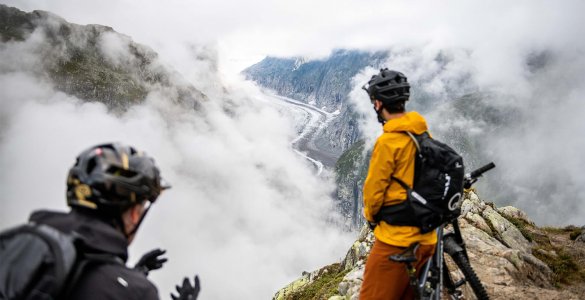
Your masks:
{"label": "pale white overcast sky along the top above the mountains", "polygon": [[582,33],[585,11],[579,0],[0,2],[49,10],[79,24],[108,25],[163,54],[183,43],[213,44],[230,71],[265,55],[319,57],[333,48],[390,45],[496,50],[505,59],[528,46],[572,46],[568,37]]}

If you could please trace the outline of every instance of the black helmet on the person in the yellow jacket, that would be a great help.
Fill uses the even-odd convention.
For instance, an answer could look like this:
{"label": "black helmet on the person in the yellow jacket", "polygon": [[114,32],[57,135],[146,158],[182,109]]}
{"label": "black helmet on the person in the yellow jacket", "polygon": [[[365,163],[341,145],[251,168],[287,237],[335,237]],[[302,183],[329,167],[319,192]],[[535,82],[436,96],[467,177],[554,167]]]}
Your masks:
{"label": "black helmet on the person in the yellow jacket", "polygon": [[368,92],[370,100],[380,100],[384,104],[407,101],[410,97],[410,84],[404,74],[398,71],[380,69],[380,73],[372,76],[362,89]]}

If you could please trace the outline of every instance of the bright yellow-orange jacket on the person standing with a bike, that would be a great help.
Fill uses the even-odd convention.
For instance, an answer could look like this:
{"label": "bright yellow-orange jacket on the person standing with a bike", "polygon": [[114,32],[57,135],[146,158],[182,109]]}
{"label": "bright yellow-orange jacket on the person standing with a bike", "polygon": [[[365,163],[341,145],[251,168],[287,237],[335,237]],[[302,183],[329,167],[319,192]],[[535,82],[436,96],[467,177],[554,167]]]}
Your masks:
{"label": "bright yellow-orange jacket on the person standing with a bike", "polygon": [[[406,190],[390,176],[402,179],[412,186],[414,180],[414,157],[416,146],[407,134],[427,131],[425,119],[417,112],[392,119],[384,124],[384,133],[374,145],[368,177],[364,183],[364,216],[373,222],[374,216],[385,205],[406,200]],[[386,244],[408,247],[411,243],[432,245],[437,242],[435,231],[420,234],[417,227],[394,226],[381,221],[374,229],[376,238]]]}

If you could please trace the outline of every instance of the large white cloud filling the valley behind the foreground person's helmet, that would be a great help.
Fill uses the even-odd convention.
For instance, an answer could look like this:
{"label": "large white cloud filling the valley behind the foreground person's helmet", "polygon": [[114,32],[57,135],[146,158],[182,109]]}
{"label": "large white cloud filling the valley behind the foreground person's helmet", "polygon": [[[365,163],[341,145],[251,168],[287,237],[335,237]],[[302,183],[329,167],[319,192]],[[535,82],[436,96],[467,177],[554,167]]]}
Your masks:
{"label": "large white cloud filling the valley behind the foreground person's helmet", "polygon": [[[27,43],[3,44],[1,60],[39,46]],[[102,43],[118,49],[115,62],[126,61],[124,41]],[[56,91],[28,67],[17,71],[19,65],[0,69],[1,228],[24,222],[33,209],[66,209],[65,176],[76,155],[121,141],[152,155],[173,186],[130,248],[131,261],[154,247],[168,250],[169,262],[151,273],[163,298],[195,273],[202,297],[270,298],[302,271],[345,254],[352,236],[336,229],[333,183],[292,150],[292,121],[253,86],[221,84],[217,70],[207,73],[214,72],[211,63],[191,74],[210,81],[200,82],[209,99],[198,112],[161,89],[113,115],[103,104]]]}

